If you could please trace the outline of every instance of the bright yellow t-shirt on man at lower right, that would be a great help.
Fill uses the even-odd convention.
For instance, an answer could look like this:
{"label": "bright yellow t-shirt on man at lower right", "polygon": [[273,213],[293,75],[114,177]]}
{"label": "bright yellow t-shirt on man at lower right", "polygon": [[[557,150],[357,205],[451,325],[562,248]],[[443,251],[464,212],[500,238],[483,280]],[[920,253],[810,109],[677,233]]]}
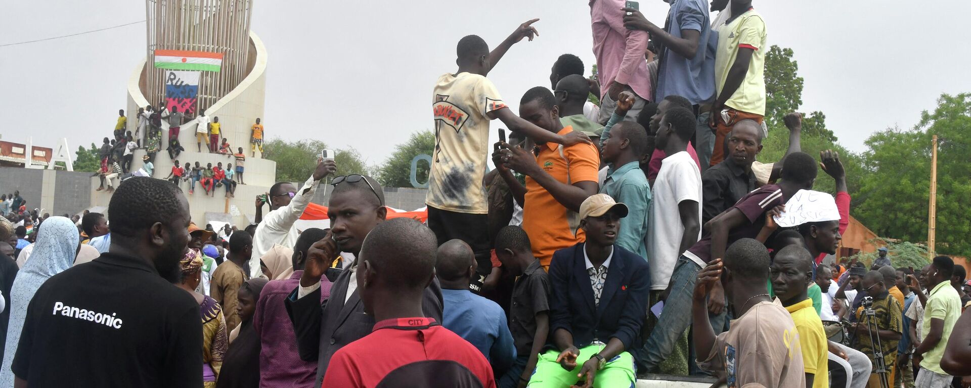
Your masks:
{"label": "bright yellow t-shirt on man at lower right", "polygon": [[820,314],[813,308],[813,300],[807,299],[786,310],[792,316],[795,329],[799,332],[799,345],[802,347],[802,368],[807,373],[816,374],[813,388],[829,386],[829,345],[826,333],[822,330]]}

